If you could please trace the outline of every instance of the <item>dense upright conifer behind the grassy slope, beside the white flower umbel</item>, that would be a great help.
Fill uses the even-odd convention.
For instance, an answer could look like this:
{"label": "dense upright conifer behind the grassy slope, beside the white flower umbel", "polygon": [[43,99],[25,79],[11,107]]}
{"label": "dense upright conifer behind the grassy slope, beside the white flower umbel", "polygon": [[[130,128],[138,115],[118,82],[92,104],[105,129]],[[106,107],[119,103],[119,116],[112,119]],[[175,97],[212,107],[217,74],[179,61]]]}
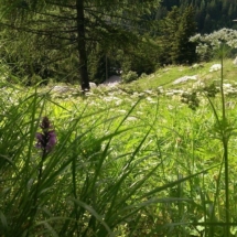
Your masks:
{"label": "dense upright conifer behind the grassy slope, beside the white flower umbel", "polygon": [[158,37],[162,45],[160,62],[164,64],[191,64],[195,61],[195,43],[190,37],[196,32],[193,8],[186,7],[184,12],[173,7],[166,18],[161,22],[161,36]]}

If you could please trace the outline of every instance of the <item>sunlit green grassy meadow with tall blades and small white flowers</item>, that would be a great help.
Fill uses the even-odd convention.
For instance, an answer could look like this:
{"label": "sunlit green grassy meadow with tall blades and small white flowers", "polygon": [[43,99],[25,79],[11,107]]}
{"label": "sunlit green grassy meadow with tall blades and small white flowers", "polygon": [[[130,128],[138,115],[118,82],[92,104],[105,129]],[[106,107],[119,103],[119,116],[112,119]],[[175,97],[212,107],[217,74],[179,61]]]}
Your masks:
{"label": "sunlit green grassy meadow with tall blades and small white flowers", "polygon": [[216,63],[85,96],[2,79],[0,236],[237,236],[237,67],[224,61],[222,84]]}

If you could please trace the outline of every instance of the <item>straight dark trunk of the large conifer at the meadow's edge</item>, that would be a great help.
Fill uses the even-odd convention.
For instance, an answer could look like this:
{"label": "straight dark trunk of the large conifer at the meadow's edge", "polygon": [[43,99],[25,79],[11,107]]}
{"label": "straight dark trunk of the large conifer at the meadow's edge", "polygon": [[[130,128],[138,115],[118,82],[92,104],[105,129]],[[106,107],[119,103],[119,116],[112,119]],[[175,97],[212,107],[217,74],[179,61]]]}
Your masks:
{"label": "straight dark trunk of the large conifer at the meadow's edge", "polygon": [[89,90],[89,76],[87,71],[87,53],[85,41],[85,15],[84,15],[84,0],[76,0],[77,13],[77,50],[79,56],[79,75],[80,87],[83,91]]}

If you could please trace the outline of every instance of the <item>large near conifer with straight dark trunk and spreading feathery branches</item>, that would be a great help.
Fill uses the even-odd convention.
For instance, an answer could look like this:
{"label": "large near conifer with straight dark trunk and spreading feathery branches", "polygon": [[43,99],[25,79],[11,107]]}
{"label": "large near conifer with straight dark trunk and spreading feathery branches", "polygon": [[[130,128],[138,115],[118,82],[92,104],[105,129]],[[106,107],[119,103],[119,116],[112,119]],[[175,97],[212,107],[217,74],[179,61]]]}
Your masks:
{"label": "large near conifer with straight dark trunk and spreading feathery branches", "polygon": [[[109,47],[126,46],[139,25],[149,21],[146,14],[160,0],[0,0],[1,26],[45,37],[49,51],[72,45],[78,53],[78,72],[83,90],[89,89],[88,49],[94,42]],[[42,24],[43,22],[43,24]],[[55,40],[56,39],[56,40]],[[58,45],[55,45],[58,42]],[[75,53],[74,53],[75,54]],[[69,54],[71,56],[72,54]]]}

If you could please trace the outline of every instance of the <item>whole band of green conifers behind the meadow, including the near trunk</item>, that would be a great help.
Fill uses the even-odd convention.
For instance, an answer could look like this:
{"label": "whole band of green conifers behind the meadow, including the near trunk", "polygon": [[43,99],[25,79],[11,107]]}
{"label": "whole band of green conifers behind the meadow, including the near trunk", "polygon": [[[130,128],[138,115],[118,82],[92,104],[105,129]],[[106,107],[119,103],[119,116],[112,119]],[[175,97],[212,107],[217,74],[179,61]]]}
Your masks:
{"label": "whole band of green conifers behind the meadow, including the near trunk", "polygon": [[230,0],[0,0],[0,55],[26,85],[79,82],[89,89],[89,82],[99,84],[116,69],[141,75],[163,64],[192,64],[198,58],[188,39],[233,24],[236,6]]}

